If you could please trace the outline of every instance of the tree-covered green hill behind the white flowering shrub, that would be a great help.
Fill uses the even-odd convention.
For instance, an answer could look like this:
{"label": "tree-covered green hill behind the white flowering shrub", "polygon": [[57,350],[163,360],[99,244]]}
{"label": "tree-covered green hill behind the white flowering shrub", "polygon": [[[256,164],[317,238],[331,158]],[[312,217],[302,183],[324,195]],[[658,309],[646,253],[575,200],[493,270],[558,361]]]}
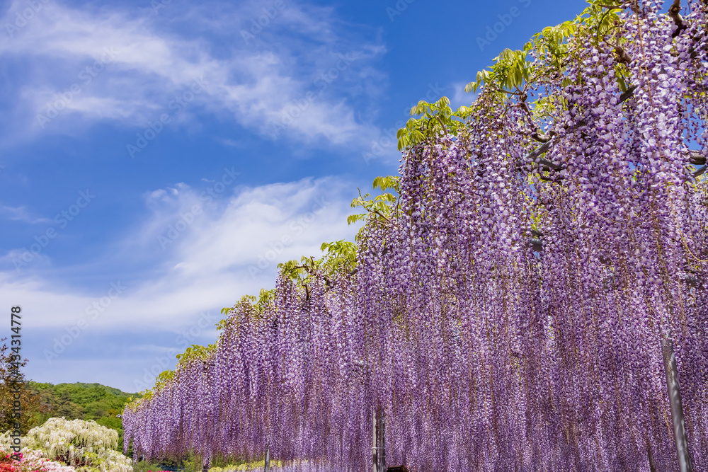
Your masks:
{"label": "tree-covered green hill behind the white flowering shrub", "polygon": [[118,431],[119,449],[123,444],[123,428],[120,415],[130,396],[118,388],[101,384],[41,384],[28,382],[28,388],[40,394],[40,402],[48,409],[38,418],[42,424],[47,418],[61,417],[67,420],[94,420],[99,425]]}

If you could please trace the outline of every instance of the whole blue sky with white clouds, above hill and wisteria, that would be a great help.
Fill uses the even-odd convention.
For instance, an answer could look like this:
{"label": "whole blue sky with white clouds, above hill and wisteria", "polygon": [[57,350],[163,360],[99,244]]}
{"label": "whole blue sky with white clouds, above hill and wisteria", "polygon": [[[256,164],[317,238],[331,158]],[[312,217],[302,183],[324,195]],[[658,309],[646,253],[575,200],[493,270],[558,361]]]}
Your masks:
{"label": "whole blue sky with white clouds, above hill and wisteria", "polygon": [[35,381],[152,386],[353,238],[418,100],[583,1],[0,1],[0,299]]}

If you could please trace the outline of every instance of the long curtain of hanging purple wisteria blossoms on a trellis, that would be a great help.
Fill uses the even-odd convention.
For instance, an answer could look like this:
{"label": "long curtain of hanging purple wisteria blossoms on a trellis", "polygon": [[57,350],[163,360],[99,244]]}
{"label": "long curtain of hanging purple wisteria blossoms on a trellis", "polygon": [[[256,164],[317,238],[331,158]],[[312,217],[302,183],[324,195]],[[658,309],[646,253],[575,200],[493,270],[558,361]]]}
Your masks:
{"label": "long curtain of hanging purple wisteria blossoms on a trellis", "polygon": [[[126,408],[126,450],[367,471],[382,409],[387,461],[413,471],[675,470],[670,336],[708,470],[708,193],[690,165],[708,154],[708,4],[622,8],[607,38],[569,38],[566,74],[501,105],[484,86],[464,129],[409,147],[358,270],[281,275],[273,301],[234,306],[211,355]],[[556,104],[544,129],[529,96]]]}

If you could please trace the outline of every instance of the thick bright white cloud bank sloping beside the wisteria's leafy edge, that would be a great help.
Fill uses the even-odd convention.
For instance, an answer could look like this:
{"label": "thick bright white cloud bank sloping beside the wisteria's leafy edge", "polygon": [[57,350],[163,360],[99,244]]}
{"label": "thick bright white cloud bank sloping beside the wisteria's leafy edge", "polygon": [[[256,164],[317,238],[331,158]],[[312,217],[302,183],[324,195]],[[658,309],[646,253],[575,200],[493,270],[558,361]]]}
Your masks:
{"label": "thick bright white cloud bank sloping beside the wisteria's leafy edge", "polygon": [[[145,200],[152,213],[110,255],[128,263],[156,259],[155,267],[143,267],[142,279],[116,275],[113,284],[87,292],[67,287],[49,270],[23,277],[0,272],[0,298],[21,301],[33,313],[25,321],[29,329],[63,329],[81,319],[91,330],[178,327],[195,313],[218,311],[272,287],[278,263],[319,255],[324,241],[353,238],[355,229],[346,224],[348,195],[341,188],[352,185],[337,178],[304,179],[239,188],[211,201],[184,184],[149,192]],[[76,271],[104,267],[106,258],[100,259],[79,263]],[[123,269],[116,267],[116,274]],[[70,272],[71,267],[62,269]]]}

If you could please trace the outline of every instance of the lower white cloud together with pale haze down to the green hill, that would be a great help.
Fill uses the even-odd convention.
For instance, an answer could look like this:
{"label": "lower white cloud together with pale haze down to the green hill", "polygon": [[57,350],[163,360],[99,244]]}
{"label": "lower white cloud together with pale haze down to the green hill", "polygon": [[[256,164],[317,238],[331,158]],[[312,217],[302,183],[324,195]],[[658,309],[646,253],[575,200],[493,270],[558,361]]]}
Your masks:
{"label": "lower white cloud together with pale haze down to the green hill", "polygon": [[[329,177],[236,187],[234,178],[224,185],[233,174],[210,180],[206,190],[177,183],[146,192],[147,213],[115,235],[116,246],[106,244],[108,255],[59,269],[43,256],[46,263],[30,275],[0,272],[0,298],[27,313],[25,336],[42,333],[25,340],[28,377],[149,388],[159,372],[173,368],[177,352],[216,340],[222,307],[273,287],[278,263],[319,256],[324,241],[353,240],[357,228],[346,224],[353,183]],[[161,238],[170,241],[164,249]],[[126,280],[120,274],[134,269],[115,260],[126,267],[142,261],[135,271],[142,276]],[[115,277],[99,289],[62,282],[106,267]]]}

